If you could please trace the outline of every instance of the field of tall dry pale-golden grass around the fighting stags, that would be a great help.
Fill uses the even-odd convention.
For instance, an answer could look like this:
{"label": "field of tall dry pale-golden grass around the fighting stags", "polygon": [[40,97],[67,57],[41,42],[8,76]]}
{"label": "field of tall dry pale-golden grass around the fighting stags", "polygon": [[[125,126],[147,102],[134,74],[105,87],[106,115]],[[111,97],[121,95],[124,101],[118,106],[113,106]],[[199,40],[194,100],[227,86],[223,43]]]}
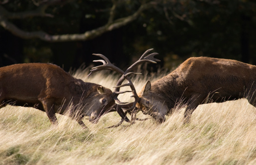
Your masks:
{"label": "field of tall dry pale-golden grass around the fighting stags", "polygon": [[[74,74],[112,90],[118,78],[86,75]],[[139,91],[147,79],[162,76],[133,82]],[[129,95],[120,100],[131,101]],[[84,130],[67,116],[57,114],[53,127],[45,112],[6,106],[0,109],[0,165],[256,165],[256,109],[247,100],[200,105],[186,125],[183,111],[176,109],[161,125],[149,119],[105,129],[120,120],[111,112],[97,124],[85,117]]]}

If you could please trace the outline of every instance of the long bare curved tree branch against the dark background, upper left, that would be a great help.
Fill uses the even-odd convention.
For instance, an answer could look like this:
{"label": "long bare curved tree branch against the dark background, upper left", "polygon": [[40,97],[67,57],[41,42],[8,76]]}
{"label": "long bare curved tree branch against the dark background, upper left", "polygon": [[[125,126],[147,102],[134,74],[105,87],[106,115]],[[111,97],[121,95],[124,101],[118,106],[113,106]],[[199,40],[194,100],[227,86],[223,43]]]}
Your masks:
{"label": "long bare curved tree branch against the dark background, upper left", "polygon": [[[54,1],[60,1],[60,0],[54,0]],[[110,18],[110,21],[108,21],[108,23],[106,25],[99,27],[97,29],[91,30],[91,31],[86,31],[85,33],[82,33],[82,34],[50,35],[43,31],[26,32],[26,31],[19,29],[13,23],[11,23],[7,20],[7,18],[9,18],[9,17],[6,18],[5,17],[6,14],[4,14],[4,12],[6,10],[4,12],[0,12],[0,26],[2,26],[4,29],[11,32],[13,35],[18,36],[23,39],[38,38],[38,39],[41,39],[41,40],[47,41],[47,42],[85,41],[85,40],[93,39],[107,31],[117,29],[121,26],[124,26],[124,25],[132,22],[133,20],[138,18],[139,15],[144,10],[148,9],[151,6],[152,6],[152,3],[142,4],[140,6],[140,8],[134,14],[127,16],[127,17],[117,19],[117,20],[111,20],[113,18]],[[0,8],[0,11],[3,11],[1,9],[2,8]],[[25,16],[25,14],[23,15],[23,17],[24,16]],[[23,18],[23,17],[21,17],[21,18]]]}

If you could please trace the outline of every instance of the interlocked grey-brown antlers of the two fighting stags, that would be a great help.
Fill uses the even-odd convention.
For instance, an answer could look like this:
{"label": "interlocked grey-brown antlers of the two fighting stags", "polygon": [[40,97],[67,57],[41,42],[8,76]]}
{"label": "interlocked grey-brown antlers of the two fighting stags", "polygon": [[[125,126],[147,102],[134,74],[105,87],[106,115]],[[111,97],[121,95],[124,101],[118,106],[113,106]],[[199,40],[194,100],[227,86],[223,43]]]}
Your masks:
{"label": "interlocked grey-brown antlers of the two fighting stags", "polygon": [[[133,63],[126,71],[121,70],[120,68],[114,66],[107,57],[105,57],[104,55],[100,55],[100,54],[93,54],[96,56],[99,56],[101,58],[103,58],[104,60],[94,60],[94,62],[102,62],[103,65],[99,65],[96,67],[91,68],[91,72],[90,74],[97,72],[99,70],[113,70],[116,71],[118,73],[120,73],[122,76],[121,78],[118,80],[115,88],[115,91],[113,92],[113,95],[111,96],[111,98],[116,102],[116,110],[118,112],[118,114],[122,117],[121,121],[113,126],[110,127],[116,127],[119,126],[123,120],[127,121],[127,122],[131,122],[131,124],[133,124],[133,121],[136,120],[143,120],[143,119],[138,119],[136,118],[136,112],[137,112],[137,108],[136,108],[136,103],[138,103],[140,101],[140,98],[138,97],[137,93],[136,93],[136,89],[131,81],[131,79],[129,78],[129,75],[131,74],[141,74],[141,73],[135,73],[132,72],[132,70],[134,69],[135,66],[138,66],[142,63],[157,63],[157,61],[160,61],[159,59],[154,58],[155,55],[158,55],[158,53],[152,53],[150,55],[148,55],[148,53],[150,51],[152,51],[153,49],[149,49],[147,50],[135,63]],[[89,75],[90,75],[89,74]],[[88,75],[88,76],[89,76]],[[124,80],[127,80],[128,83],[126,84],[122,84]],[[132,91],[120,91],[121,87],[125,87],[125,86],[130,86]],[[135,101],[132,103],[122,103],[118,100],[117,96],[119,94],[123,94],[126,92],[132,92],[133,95],[131,97],[135,98]],[[126,112],[124,112],[123,110],[126,110]],[[127,117],[126,117],[126,113],[129,112],[130,114],[132,114],[132,121],[130,121]],[[108,128],[110,128],[108,127]]]}

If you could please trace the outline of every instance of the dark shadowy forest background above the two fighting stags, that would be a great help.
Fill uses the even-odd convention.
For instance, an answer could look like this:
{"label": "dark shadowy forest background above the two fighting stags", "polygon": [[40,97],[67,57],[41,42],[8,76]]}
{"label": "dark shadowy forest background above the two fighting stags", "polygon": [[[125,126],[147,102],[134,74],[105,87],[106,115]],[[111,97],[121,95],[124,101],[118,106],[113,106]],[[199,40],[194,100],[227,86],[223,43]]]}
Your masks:
{"label": "dark shadowy forest background above the two fighting stags", "polygon": [[[121,25],[83,39],[33,36],[83,34],[114,21]],[[90,65],[95,53],[125,68],[150,48],[170,69],[191,56],[256,64],[256,0],[0,0],[0,66],[51,62],[69,70]]]}

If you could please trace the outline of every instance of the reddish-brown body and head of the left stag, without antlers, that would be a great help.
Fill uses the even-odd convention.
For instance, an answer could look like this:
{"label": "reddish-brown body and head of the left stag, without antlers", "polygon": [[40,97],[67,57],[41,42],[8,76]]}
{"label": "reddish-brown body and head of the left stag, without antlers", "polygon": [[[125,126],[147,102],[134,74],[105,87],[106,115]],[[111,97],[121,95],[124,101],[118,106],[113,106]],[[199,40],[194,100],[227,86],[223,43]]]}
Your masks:
{"label": "reddish-brown body and head of the left stag, without antlers", "polygon": [[33,107],[45,111],[52,124],[57,124],[55,113],[64,114],[72,103],[69,114],[85,127],[85,115],[89,121],[98,118],[114,101],[112,91],[98,84],[76,79],[54,64],[23,63],[0,68],[0,108],[15,106]]}

